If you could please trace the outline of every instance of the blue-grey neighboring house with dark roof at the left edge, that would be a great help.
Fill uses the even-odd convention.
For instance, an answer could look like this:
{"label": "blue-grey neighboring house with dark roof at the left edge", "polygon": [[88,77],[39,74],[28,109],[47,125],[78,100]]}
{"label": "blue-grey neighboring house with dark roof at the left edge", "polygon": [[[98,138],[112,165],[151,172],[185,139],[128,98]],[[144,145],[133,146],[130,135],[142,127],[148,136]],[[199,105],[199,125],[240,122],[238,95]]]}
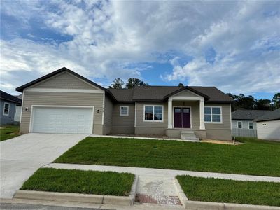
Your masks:
{"label": "blue-grey neighboring house with dark roof at the left edge", "polygon": [[0,90],[0,124],[7,125],[20,121],[22,100]]}

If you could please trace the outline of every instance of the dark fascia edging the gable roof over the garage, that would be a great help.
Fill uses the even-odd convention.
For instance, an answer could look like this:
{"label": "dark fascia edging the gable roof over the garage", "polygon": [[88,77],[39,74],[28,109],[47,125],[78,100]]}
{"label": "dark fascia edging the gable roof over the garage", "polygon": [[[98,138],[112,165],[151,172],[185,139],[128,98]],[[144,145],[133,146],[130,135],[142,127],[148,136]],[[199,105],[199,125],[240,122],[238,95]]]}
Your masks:
{"label": "dark fascia edging the gable roof over the garage", "polygon": [[92,85],[94,85],[94,86],[99,87],[100,89],[104,90],[107,94],[109,94],[109,96],[112,97],[113,100],[117,101],[116,98],[113,96],[113,94],[112,94],[109,90],[107,90],[106,88],[104,88],[104,87],[98,85],[97,83],[92,82],[91,80],[89,80],[89,79],[87,79],[87,78],[85,78],[85,77],[83,77],[83,76],[80,76],[80,74],[78,74],[78,73],[76,73],[76,72],[74,72],[74,71],[71,71],[70,69],[67,69],[66,67],[62,67],[61,69],[58,69],[57,71],[53,71],[53,72],[51,72],[51,73],[48,73],[47,75],[42,76],[42,77],[40,77],[40,78],[38,78],[38,79],[36,79],[36,80],[33,80],[33,81],[31,81],[30,83],[27,83],[27,84],[25,84],[25,85],[22,85],[22,86],[20,86],[20,87],[17,87],[15,90],[18,91],[18,92],[23,92],[23,90],[24,90],[25,88],[30,87],[31,85],[34,85],[34,84],[36,84],[36,83],[38,83],[38,82],[41,82],[41,81],[43,81],[43,80],[45,80],[45,79],[47,79],[47,78],[50,78],[50,77],[52,77],[52,76],[55,76],[55,75],[57,75],[58,73],[62,73],[63,71],[66,71],[66,72],[68,72],[68,73],[71,73],[71,74],[73,74],[74,76],[76,76],[76,77],[78,77],[78,78],[80,78],[80,79],[82,79],[82,80],[85,80],[85,82],[90,83],[90,84],[92,84]]}

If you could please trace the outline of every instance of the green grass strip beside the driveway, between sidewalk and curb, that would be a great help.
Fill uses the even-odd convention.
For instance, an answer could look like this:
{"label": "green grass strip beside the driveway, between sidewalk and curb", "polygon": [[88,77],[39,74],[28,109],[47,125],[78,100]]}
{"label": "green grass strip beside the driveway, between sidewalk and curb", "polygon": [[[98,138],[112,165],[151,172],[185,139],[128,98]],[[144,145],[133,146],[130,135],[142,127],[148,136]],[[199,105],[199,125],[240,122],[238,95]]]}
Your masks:
{"label": "green grass strip beside the driveway, between sidewalk and curb", "polygon": [[69,169],[38,169],[21,190],[128,196],[134,174]]}

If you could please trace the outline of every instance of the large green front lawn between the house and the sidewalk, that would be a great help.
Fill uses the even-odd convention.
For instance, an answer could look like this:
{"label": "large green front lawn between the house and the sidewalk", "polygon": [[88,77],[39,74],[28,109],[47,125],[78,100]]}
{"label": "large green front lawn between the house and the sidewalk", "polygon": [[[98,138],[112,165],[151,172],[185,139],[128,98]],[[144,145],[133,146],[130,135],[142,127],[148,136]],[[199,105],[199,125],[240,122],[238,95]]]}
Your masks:
{"label": "large green front lawn between the house and the sidewalk", "polygon": [[280,176],[279,142],[242,140],[233,146],[87,137],[55,162]]}

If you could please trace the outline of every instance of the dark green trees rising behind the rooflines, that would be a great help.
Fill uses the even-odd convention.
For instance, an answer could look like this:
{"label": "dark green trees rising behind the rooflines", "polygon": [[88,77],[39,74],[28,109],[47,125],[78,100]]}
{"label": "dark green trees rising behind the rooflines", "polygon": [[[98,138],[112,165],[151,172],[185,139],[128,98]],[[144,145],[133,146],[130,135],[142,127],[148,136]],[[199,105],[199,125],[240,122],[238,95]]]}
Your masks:
{"label": "dark green trees rising behind the rooflines", "polygon": [[[121,78],[116,78],[109,88],[115,89],[131,89],[137,86],[150,86],[145,83],[144,80],[139,78],[129,78],[125,83]],[[179,83],[179,87],[183,87],[183,83]],[[255,99],[253,96],[245,96],[244,94],[231,94],[227,93],[228,96],[235,100],[232,104],[232,111],[237,109],[261,109],[261,110],[274,110],[280,108],[280,92],[274,94],[272,99]]]}

